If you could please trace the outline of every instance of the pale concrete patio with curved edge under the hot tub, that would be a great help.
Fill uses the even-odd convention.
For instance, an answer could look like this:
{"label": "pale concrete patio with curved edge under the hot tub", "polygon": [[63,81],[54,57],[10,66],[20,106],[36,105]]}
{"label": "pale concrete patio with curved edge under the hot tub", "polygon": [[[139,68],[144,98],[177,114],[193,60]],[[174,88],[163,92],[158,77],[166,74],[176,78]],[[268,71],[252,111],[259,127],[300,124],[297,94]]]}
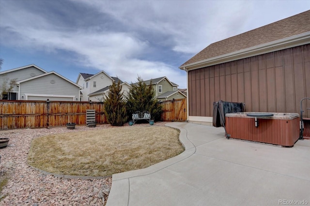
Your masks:
{"label": "pale concrete patio with curved edge under the hot tub", "polygon": [[224,128],[171,122],[186,150],[112,176],[107,206],[310,204],[310,140],[278,147],[226,139]]}

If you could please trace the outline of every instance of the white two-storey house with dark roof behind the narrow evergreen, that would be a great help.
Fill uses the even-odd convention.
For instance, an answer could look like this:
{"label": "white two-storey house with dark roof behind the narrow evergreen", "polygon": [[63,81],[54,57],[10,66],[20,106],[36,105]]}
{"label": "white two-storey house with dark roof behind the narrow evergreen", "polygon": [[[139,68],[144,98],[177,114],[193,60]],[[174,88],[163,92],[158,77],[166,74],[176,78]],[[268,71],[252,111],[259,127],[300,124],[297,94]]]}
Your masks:
{"label": "white two-storey house with dark roof behind the narrow evergreen", "polygon": [[78,74],[77,84],[82,87],[80,101],[103,102],[104,96],[109,92],[109,86],[113,82],[118,83],[119,81],[122,85],[122,91],[126,95],[131,86],[117,77],[109,76],[104,71],[100,71],[97,74]]}

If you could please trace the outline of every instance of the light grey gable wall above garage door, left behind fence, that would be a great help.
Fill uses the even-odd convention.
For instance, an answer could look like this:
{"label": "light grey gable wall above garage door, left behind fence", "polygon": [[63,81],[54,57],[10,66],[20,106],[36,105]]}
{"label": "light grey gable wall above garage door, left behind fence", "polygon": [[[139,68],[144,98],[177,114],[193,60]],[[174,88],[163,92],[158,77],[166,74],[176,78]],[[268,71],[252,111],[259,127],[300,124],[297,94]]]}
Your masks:
{"label": "light grey gable wall above garage door, left behind fence", "polygon": [[[52,84],[52,80],[55,81]],[[42,76],[40,78],[35,78],[26,82],[20,83],[20,94],[19,99],[24,97],[26,99],[26,95],[30,94],[30,99],[34,100],[33,96],[39,96],[36,100],[47,100],[47,98],[51,97],[55,100],[55,97],[59,97],[59,101],[69,100],[67,97],[70,96],[70,101],[79,100],[79,88],[66,80],[62,79],[56,74],[48,74],[46,76]],[[33,95],[32,95],[33,94]],[[41,98],[42,97],[42,98]],[[51,98],[49,98],[51,100]],[[65,99],[64,99],[65,98]]]}

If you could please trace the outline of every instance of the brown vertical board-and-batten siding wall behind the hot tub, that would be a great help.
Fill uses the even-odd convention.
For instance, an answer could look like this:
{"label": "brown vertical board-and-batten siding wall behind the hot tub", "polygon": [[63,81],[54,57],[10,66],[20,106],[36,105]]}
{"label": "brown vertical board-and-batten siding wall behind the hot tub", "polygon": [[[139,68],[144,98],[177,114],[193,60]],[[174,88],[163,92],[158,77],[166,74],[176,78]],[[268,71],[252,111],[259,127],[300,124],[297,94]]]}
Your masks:
{"label": "brown vertical board-and-batten siding wall behind the hot tub", "polygon": [[310,97],[310,44],[190,70],[188,81],[189,116],[212,117],[219,100],[244,102],[247,112],[300,113]]}

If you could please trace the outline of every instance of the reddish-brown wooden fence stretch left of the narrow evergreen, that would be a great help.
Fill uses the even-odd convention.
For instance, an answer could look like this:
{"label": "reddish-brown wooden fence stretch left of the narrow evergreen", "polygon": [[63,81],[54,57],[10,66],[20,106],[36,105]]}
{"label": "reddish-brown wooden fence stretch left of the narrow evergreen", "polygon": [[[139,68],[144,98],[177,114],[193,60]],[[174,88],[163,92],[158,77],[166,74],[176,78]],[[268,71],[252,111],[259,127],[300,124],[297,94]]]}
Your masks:
{"label": "reddish-brown wooden fence stretch left of the narrow evergreen", "polygon": [[0,130],[86,124],[86,110],[96,111],[96,122],[106,123],[103,103],[0,100]]}

